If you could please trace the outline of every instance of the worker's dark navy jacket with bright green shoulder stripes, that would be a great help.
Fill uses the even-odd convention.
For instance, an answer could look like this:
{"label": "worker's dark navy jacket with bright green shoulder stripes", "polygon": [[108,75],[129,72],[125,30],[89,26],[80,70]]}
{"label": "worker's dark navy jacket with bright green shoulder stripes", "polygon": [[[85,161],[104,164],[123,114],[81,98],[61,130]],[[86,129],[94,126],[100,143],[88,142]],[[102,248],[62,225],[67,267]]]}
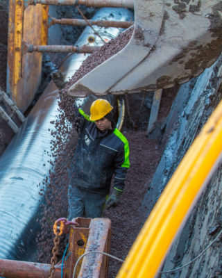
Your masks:
{"label": "worker's dark navy jacket with bright green shoulder stripes", "polygon": [[100,131],[89,116],[80,113],[84,117],[71,165],[71,185],[107,195],[114,174],[114,188],[123,190],[130,167],[128,141],[118,129]]}

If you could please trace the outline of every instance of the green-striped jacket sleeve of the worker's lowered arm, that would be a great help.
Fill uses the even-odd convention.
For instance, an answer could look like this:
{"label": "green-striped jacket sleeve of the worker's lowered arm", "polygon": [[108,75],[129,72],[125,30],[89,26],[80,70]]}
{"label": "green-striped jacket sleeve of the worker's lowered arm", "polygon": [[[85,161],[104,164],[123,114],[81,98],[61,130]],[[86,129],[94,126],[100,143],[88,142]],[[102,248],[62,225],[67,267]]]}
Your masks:
{"label": "green-striped jacket sleeve of the worker's lowered arm", "polygon": [[123,191],[125,187],[126,173],[130,167],[129,155],[130,150],[126,140],[122,151],[118,152],[114,158],[114,188],[119,191]]}

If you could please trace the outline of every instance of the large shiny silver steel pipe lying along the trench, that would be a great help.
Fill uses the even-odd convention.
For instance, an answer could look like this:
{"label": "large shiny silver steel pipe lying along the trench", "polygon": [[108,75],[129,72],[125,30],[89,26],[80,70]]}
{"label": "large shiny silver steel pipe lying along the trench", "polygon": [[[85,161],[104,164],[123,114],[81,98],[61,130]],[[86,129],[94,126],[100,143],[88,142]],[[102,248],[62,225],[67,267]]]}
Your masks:
{"label": "large shiny silver steel pipe lying along the trench", "polygon": [[[110,19],[126,21],[133,17],[124,8],[101,8],[94,20]],[[103,39],[116,37],[118,28],[96,28]],[[92,36],[92,28],[87,27],[76,45],[87,44]],[[101,45],[96,37],[94,46]],[[69,79],[83,63],[87,55],[70,54],[63,60],[60,71]],[[37,216],[44,196],[40,187],[51,170],[49,163],[52,121],[59,115],[58,90],[51,81],[35,107],[26,118],[18,133],[0,158],[0,258],[30,260],[33,254],[32,240],[38,226]]]}

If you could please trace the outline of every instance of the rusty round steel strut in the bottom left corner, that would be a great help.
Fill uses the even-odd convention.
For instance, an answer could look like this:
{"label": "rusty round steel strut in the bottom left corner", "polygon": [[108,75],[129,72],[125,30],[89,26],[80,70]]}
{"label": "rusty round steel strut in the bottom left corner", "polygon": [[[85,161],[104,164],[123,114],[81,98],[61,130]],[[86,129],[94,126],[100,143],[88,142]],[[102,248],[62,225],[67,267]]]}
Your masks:
{"label": "rusty round steel strut in the bottom left corner", "polygon": [[[48,278],[51,265],[0,259],[0,276],[6,278]],[[55,265],[55,278],[61,277],[61,265]]]}

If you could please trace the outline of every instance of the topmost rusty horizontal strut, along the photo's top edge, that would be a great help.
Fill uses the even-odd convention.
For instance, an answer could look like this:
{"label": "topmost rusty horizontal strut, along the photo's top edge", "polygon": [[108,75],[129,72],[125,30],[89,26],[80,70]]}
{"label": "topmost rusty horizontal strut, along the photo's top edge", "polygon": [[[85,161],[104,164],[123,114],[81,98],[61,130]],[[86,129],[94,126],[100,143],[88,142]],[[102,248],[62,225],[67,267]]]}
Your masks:
{"label": "topmost rusty horizontal strut, along the photo's top edge", "polygon": [[36,5],[37,3],[44,5],[56,6],[76,6],[85,5],[89,7],[116,7],[116,8],[134,8],[134,0],[30,0],[27,1],[29,5]]}

